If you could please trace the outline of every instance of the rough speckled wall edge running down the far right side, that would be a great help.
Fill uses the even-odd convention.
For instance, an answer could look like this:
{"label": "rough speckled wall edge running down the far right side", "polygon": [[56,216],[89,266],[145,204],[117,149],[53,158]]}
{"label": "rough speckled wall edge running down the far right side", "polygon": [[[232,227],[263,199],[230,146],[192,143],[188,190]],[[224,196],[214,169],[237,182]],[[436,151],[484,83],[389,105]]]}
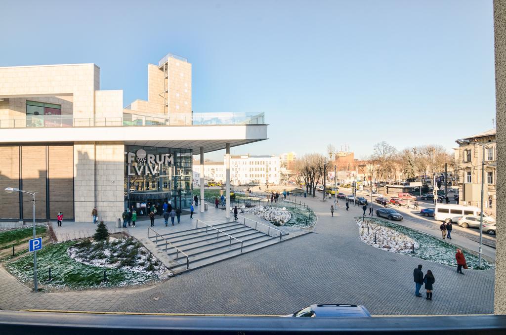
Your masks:
{"label": "rough speckled wall edge running down the far right side", "polygon": [[494,314],[506,314],[506,0],[494,0],[497,200]]}

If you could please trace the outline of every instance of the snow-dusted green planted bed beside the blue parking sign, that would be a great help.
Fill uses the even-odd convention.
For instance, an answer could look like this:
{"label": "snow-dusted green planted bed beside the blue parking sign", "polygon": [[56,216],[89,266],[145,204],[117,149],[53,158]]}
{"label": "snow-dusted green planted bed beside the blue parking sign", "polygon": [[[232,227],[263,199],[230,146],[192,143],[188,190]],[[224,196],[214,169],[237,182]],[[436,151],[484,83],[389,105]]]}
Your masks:
{"label": "snow-dusted green planted bed beside the blue parking sign", "polygon": [[[165,269],[163,265],[142,244],[134,240],[122,249],[126,243],[92,244],[74,240],[47,244],[37,252],[38,280],[43,287],[83,289],[143,284],[166,277],[160,275],[160,270]],[[6,268],[22,282],[32,281],[31,254],[8,262]]]}

